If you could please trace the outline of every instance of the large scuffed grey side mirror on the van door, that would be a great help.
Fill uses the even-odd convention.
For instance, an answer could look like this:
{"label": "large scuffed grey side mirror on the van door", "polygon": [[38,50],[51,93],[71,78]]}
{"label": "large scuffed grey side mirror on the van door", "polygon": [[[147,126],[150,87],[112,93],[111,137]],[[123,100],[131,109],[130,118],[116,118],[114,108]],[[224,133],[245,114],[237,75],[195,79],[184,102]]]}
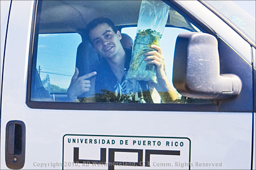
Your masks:
{"label": "large scuffed grey side mirror on the van door", "polygon": [[235,74],[220,74],[218,42],[200,32],[181,33],[176,39],[173,85],[188,98],[233,99],[242,89]]}

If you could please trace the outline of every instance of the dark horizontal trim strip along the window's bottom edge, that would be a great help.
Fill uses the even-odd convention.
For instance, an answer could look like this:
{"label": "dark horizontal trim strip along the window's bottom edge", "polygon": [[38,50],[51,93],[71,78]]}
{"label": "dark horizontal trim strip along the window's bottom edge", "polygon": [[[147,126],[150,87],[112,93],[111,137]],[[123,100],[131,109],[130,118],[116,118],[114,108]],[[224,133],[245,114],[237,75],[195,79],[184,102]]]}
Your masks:
{"label": "dark horizontal trim strip along the window's bottom edge", "polygon": [[207,111],[218,112],[215,104],[180,104],[180,103],[62,103],[38,102],[26,103],[31,109],[92,110],[92,111]]}

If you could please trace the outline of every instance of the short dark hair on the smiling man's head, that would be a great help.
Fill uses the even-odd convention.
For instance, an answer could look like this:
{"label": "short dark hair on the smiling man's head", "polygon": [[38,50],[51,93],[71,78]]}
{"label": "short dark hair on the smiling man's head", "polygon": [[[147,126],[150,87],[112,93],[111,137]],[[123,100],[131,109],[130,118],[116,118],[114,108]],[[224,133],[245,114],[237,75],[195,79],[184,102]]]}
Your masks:
{"label": "short dark hair on the smiling man's head", "polygon": [[99,26],[99,24],[108,24],[113,29],[113,31],[117,33],[117,28],[115,27],[115,24],[113,21],[111,21],[111,19],[109,19],[108,17],[97,17],[88,23],[87,28],[85,30],[87,39],[89,41],[90,41],[90,37],[89,37],[90,31],[92,31],[92,29],[94,29],[95,27]]}

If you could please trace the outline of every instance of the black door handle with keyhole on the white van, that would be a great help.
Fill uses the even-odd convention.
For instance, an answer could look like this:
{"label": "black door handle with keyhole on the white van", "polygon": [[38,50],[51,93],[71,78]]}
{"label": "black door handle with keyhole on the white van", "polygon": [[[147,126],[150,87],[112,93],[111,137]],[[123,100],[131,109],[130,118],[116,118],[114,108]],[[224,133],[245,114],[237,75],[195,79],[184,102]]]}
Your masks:
{"label": "black door handle with keyhole on the white van", "polygon": [[25,163],[26,127],[23,121],[9,121],[6,124],[6,166],[21,169]]}

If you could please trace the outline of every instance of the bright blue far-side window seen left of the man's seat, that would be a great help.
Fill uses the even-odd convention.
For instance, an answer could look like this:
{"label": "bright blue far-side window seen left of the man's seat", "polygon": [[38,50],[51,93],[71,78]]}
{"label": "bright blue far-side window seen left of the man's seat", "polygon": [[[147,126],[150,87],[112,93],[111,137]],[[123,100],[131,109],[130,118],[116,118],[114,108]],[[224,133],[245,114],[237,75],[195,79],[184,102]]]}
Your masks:
{"label": "bright blue far-side window seen left of the man's seat", "polygon": [[[41,84],[49,94],[48,100],[61,101],[66,94],[75,71],[79,34],[40,34],[36,58],[36,71]],[[40,85],[38,85],[40,86]],[[37,92],[40,100],[43,92]],[[46,98],[46,97],[44,97]],[[67,101],[67,99],[63,99]]]}

